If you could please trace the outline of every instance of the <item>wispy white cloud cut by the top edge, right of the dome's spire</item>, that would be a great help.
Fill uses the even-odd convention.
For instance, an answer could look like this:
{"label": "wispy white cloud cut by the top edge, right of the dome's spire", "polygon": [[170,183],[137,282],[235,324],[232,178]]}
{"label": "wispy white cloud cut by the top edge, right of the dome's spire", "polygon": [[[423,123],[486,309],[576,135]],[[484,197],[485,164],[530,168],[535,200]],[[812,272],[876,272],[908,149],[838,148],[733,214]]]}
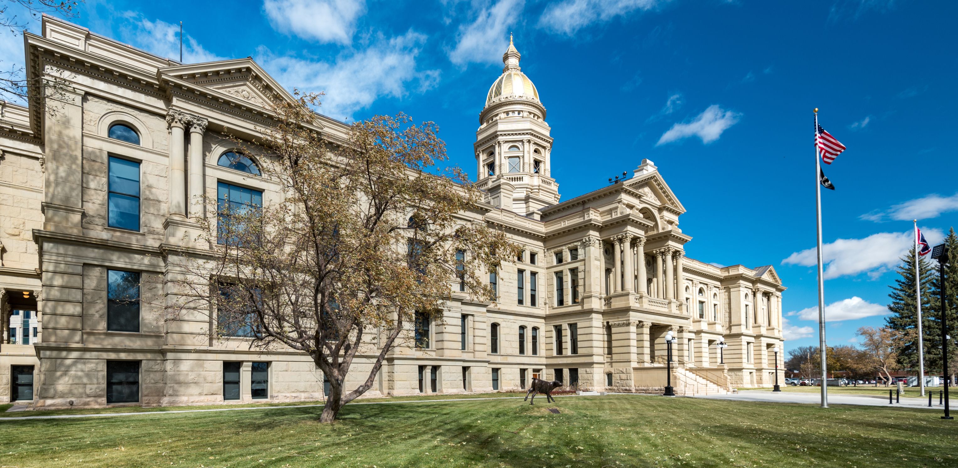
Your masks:
{"label": "wispy white cloud cut by the top edge, right of the dome's spire", "polygon": [[595,23],[604,23],[635,11],[649,11],[670,0],[563,0],[549,4],[538,26],[553,33],[574,35]]}

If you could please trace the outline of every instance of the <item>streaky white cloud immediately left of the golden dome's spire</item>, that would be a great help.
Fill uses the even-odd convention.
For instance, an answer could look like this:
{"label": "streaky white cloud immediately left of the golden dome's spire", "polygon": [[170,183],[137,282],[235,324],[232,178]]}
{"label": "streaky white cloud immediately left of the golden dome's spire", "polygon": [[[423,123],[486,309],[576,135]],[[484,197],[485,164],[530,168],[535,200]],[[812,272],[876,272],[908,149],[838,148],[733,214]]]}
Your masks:
{"label": "streaky white cloud immediately left of the golden dome's spire", "polygon": [[457,65],[501,62],[502,53],[506,52],[503,41],[509,27],[521,17],[517,13],[522,12],[524,3],[523,0],[499,0],[480,7],[474,21],[459,27],[449,60]]}

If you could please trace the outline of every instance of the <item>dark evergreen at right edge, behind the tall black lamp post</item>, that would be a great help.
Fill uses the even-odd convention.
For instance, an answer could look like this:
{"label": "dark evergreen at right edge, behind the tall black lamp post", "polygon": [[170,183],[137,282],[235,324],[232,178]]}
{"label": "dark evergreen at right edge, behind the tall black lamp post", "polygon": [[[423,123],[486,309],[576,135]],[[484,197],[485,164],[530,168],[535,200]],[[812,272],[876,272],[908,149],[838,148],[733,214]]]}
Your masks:
{"label": "dark evergreen at right edge, behind the tall black lamp post", "polygon": [[[948,246],[949,262],[945,268],[946,302],[947,315],[946,321],[948,335],[951,339],[948,341],[948,363],[958,361],[958,235],[955,235],[954,227],[948,232],[945,239]],[[931,300],[928,307],[928,315],[931,330],[925,332],[924,341],[924,368],[925,373],[941,374],[942,372],[942,328],[941,328],[941,285],[938,272],[938,264],[930,262],[931,265]],[[922,309],[924,315],[924,308]],[[927,322],[926,322],[927,323]],[[953,365],[951,366],[954,367]]]}

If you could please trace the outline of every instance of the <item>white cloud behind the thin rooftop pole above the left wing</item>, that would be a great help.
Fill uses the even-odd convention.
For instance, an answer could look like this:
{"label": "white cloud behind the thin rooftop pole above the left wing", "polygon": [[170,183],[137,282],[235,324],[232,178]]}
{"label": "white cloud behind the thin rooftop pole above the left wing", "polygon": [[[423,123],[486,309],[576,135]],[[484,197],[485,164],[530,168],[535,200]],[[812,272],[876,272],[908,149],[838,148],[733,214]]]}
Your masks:
{"label": "white cloud behind the thin rooftop pole above the left wing", "polygon": [[[179,59],[179,25],[166,21],[150,21],[139,12],[123,12],[118,27],[120,40],[146,50],[150,54]],[[203,48],[193,36],[184,32],[183,62],[201,63],[224,58]]]}

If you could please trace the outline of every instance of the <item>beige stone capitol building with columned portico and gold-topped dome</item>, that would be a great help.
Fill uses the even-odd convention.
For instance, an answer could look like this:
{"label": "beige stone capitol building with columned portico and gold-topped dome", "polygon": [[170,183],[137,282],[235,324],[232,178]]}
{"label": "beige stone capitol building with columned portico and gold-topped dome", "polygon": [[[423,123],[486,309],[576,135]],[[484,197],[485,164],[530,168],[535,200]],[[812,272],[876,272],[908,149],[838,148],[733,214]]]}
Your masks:
{"label": "beige stone capitol building with columned portico and gold-topped dome", "polygon": [[[183,234],[217,216],[190,200],[280,197],[224,132],[254,138],[270,103],[291,99],[285,87],[251,58],[182,64],[49,16],[24,44],[28,79],[68,86],[47,110],[0,104],[0,402],[322,400],[307,355],[218,335],[215,311],[164,312]],[[679,219],[695,214],[648,159],[560,200],[548,97],[519,59],[510,41],[473,153],[482,216],[521,258],[490,274],[495,301],[470,299],[450,278],[428,339],[392,350],[366,396],[518,390],[533,377],[660,392],[669,331],[676,393],[771,386],[783,359],[775,269],[687,257]],[[332,143],[346,141],[346,124],[320,123]],[[347,391],[370,365],[357,357]]]}

